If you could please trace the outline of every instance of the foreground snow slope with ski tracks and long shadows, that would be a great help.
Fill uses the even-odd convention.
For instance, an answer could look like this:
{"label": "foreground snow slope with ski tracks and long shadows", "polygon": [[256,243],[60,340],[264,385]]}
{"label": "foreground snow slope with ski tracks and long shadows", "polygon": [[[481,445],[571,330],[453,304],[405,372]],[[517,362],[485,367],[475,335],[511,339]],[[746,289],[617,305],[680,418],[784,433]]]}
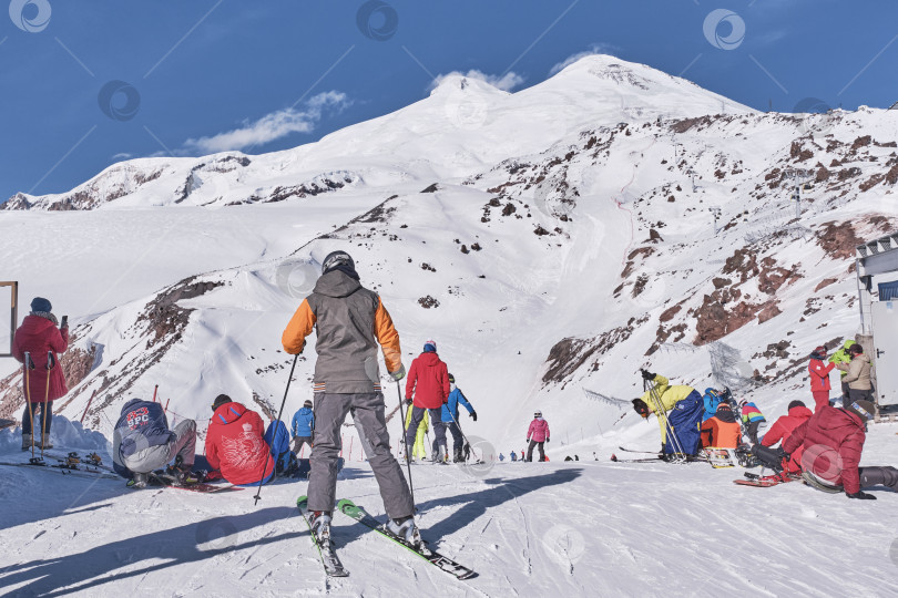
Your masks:
{"label": "foreground snow slope with ski tracks and long shadows", "polygon": [[[886,456],[892,427],[871,430],[878,458],[865,463]],[[304,481],[266,486],[254,507],[252,489],[130,491],[0,473],[0,586],[10,596],[885,596],[898,569],[888,559],[898,496],[742,487],[732,483],[741,468],[702,463],[502,463],[481,477],[416,465],[422,533],[478,573],[468,581],[339,513],[334,538],[350,575],[326,578],[294,507]],[[367,464],[350,463],[341,478],[337,496],[382,520]]]}

